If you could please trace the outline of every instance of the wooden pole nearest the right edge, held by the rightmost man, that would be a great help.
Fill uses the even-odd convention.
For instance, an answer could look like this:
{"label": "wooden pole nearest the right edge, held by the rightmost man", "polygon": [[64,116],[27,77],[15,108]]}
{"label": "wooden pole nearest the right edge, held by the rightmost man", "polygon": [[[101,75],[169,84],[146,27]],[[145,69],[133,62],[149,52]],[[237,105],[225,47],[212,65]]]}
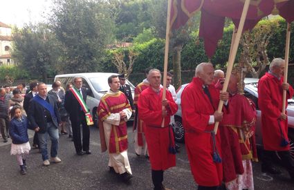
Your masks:
{"label": "wooden pole nearest the right edge, held by the rightmost man", "polygon": [[[285,68],[284,68],[284,83],[287,82],[288,77],[288,59],[289,59],[289,49],[290,49],[290,35],[291,35],[291,23],[287,23],[287,33],[286,33],[286,46],[285,46]],[[286,113],[286,90],[283,91],[283,107],[282,113]]]}

